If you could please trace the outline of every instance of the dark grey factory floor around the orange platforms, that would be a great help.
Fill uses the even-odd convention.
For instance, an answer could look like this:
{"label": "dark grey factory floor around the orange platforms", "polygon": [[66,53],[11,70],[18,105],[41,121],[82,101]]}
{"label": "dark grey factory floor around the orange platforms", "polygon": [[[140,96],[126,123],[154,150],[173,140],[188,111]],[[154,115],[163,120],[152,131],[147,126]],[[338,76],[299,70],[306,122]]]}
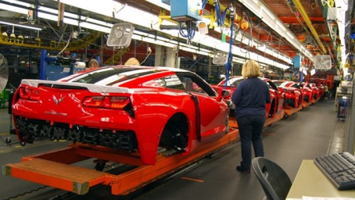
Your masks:
{"label": "dark grey factory floor around the orange platforms", "polygon": [[[5,140],[9,135],[10,116],[7,110],[0,110],[0,136]],[[325,154],[342,151],[344,122],[337,121],[334,100],[320,101],[288,119],[264,128],[263,142],[265,157],[278,163],[295,179],[303,159],[314,159]],[[26,155],[38,154],[67,146],[68,142],[49,140],[35,141],[24,147],[12,137],[12,144],[0,141],[0,164],[19,162]],[[114,197],[109,187],[95,190],[74,199],[262,199],[264,192],[254,172],[241,174],[235,170],[241,159],[240,145],[237,143],[225,153],[203,161],[190,170],[176,175],[161,184],[153,184],[134,197]],[[88,165],[88,163],[83,163]],[[40,188],[42,185],[20,179],[0,176],[0,198],[12,196]],[[15,199],[48,199],[53,188],[39,189],[31,194]],[[57,191],[57,190],[56,190]],[[52,195],[52,196],[53,196]],[[73,197],[71,197],[73,199]]]}

